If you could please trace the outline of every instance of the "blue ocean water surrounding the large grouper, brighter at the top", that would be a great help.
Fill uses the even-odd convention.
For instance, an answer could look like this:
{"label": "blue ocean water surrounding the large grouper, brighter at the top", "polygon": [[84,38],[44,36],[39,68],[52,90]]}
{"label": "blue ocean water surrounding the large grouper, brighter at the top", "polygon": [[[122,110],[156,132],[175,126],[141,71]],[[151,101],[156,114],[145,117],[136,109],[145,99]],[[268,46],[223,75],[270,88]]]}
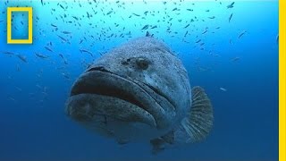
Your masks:
{"label": "blue ocean water surrounding the large grouper, brighter at the top", "polygon": [[[278,160],[278,1],[42,2],[0,2],[0,160]],[[8,6],[33,7],[32,45],[7,44]],[[206,140],[156,156],[147,143],[117,145],[64,114],[88,64],[145,36],[145,25],[214,106]],[[12,30],[27,38],[27,17],[15,13]]]}

